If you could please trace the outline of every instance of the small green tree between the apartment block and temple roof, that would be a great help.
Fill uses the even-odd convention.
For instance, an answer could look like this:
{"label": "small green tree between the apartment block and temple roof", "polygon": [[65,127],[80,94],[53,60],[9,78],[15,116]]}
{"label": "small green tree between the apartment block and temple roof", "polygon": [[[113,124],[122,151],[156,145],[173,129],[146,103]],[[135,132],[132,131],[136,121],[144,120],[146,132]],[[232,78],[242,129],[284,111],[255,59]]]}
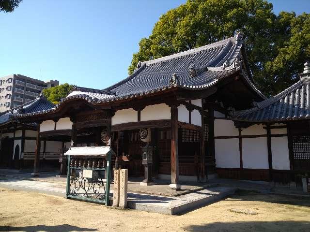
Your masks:
{"label": "small green tree between the apartment block and temple roof", "polygon": [[66,97],[72,89],[72,85],[68,83],[43,89],[44,96],[47,97],[47,100],[57,104],[62,98]]}

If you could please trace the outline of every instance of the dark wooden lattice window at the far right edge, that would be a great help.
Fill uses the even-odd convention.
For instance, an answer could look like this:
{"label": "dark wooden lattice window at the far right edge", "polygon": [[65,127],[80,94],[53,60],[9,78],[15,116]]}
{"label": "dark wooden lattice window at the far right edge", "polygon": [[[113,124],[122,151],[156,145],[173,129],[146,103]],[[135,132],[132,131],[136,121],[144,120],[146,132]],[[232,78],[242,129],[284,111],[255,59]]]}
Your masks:
{"label": "dark wooden lattice window at the far right edge", "polygon": [[293,136],[293,153],[296,160],[310,160],[310,135]]}

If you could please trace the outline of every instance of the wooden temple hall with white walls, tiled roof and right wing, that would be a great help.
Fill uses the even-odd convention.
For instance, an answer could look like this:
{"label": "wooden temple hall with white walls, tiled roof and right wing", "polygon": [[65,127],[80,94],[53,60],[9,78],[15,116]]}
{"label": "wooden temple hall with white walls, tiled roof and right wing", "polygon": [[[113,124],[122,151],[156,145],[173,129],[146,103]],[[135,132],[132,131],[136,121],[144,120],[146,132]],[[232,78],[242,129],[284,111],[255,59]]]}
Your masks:
{"label": "wooden temple hall with white walls, tiled roof and right wing", "polygon": [[131,176],[144,175],[142,148],[151,146],[152,176],[171,181],[171,188],[217,175],[288,183],[309,172],[308,71],[266,99],[253,84],[237,34],[139,62],[111,87],[74,87],[59,104],[13,118],[36,123],[35,171],[46,153],[42,141],[53,141],[58,149],[110,145],[113,166],[128,168]]}

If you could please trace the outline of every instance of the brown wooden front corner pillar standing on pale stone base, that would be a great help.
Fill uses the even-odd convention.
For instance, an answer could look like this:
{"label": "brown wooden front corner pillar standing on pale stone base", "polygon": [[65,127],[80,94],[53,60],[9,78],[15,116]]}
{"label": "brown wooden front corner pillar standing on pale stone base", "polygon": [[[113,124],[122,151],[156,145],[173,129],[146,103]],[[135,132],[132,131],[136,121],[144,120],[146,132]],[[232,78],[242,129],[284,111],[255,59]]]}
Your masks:
{"label": "brown wooden front corner pillar standing on pale stone base", "polygon": [[180,189],[179,149],[178,149],[178,106],[171,105],[171,185],[169,188]]}

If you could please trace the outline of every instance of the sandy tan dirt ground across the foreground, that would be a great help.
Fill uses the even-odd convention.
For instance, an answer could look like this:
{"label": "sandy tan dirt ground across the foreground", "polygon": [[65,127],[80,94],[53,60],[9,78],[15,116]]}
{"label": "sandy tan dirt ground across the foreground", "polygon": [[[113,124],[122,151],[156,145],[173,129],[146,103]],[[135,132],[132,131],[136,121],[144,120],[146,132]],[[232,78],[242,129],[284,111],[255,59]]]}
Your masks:
{"label": "sandy tan dirt ground across the foreground", "polygon": [[0,188],[0,231],[310,232],[310,199],[238,191],[168,216]]}

